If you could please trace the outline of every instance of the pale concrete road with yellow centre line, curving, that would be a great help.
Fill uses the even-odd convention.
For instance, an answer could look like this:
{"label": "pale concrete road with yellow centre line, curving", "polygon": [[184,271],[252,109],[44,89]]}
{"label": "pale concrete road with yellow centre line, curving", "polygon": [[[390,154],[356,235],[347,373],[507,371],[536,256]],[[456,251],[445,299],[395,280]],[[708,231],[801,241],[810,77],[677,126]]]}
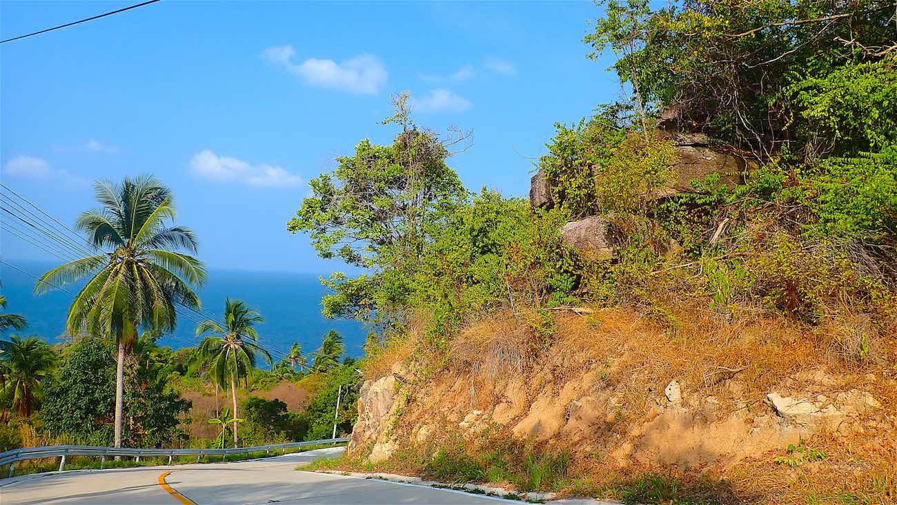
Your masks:
{"label": "pale concrete road with yellow centre line, curving", "polygon": [[[462,492],[341,475],[298,472],[342,448],[206,465],[144,466],[24,475],[0,481],[0,505],[255,505],[263,503],[509,502]],[[170,472],[162,481],[160,476]],[[166,487],[168,489],[166,489]]]}

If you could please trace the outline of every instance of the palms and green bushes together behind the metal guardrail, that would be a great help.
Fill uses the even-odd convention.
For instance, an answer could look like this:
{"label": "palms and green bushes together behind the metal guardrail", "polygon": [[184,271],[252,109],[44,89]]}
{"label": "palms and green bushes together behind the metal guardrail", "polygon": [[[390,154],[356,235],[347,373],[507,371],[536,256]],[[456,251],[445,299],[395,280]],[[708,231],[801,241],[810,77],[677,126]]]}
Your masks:
{"label": "palms and green bushes together behind the metal guardrail", "polygon": [[[294,344],[271,370],[262,370],[259,361],[272,364],[254,328],[264,318],[229,299],[221,319],[197,325],[196,337],[205,337],[199,346],[159,347],[156,341],[175,328],[179,307],[199,308],[191,286],[205,280],[205,270],[187,254],[196,253],[196,237],[170,224],[176,216],[173,197],[152,177],[98,183],[95,196],[101,210],[84,212],[76,227],[98,252],[49,271],[35,288],[43,293],[88,279],[68,313],[71,339],[54,347],[38,337],[0,340],[2,449],[54,443],[223,445],[222,437],[197,439],[188,432],[191,401],[184,396],[206,395],[210,387],[216,406],[219,391],[230,392],[231,409],[216,407],[213,419],[231,424],[222,424],[222,435],[230,431],[233,445],[239,444],[240,425],[244,443],[253,444],[326,437],[330,431],[323,427],[332,429],[335,422],[340,433],[351,430],[351,397],[360,376],[353,360],[344,358],[343,339],[335,331],[322,337],[309,358]],[[27,326],[22,316],[0,316],[0,330]],[[304,391],[308,411],[290,412],[280,400],[252,396],[281,381]],[[341,386],[335,421],[334,391]],[[241,404],[238,389],[248,395]]]}

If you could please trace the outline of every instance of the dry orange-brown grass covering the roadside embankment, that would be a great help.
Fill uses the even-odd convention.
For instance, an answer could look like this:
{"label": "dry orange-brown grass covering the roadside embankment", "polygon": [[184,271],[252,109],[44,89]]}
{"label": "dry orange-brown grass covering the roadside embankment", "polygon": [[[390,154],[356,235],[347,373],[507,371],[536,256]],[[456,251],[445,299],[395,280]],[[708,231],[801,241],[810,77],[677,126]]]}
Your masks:
{"label": "dry orange-brown grass covering the roadside embankment", "polygon": [[[595,309],[586,316],[555,312],[551,333],[534,330],[537,325],[531,319],[509,313],[471,324],[450,344],[448,360],[431,355],[429,363],[414,364],[441,372],[420,383],[416,394],[426,401],[412,401],[396,426],[402,449],[376,467],[405,474],[425,471],[427,458],[449,440],[426,441],[429,449],[424,456],[429,456],[423,458],[420,444],[414,441],[414,428],[428,423],[450,431],[471,409],[487,412],[503,397],[510,379],[522,381],[532,402],[545,390],[557,392],[568,382],[589,377],[595,383],[581,386],[610,391],[623,405],[622,416],[614,421],[612,432],[595,434],[601,439],[593,444],[595,451],[581,451],[579,444],[568,445],[572,441],[562,437],[548,442],[553,451],[569,449],[571,457],[570,479],[556,482],[554,491],[621,500],[632,490],[668,484],[677,490],[676,496],[692,500],[681,502],[692,503],[897,503],[897,433],[892,432],[897,420],[897,337],[893,329],[863,326],[867,320],[862,316],[832,320],[815,330],[779,316],[728,321],[707,306],[703,300],[694,304],[680,300],[655,304],[649,311],[614,307]],[[373,376],[388,371],[396,363],[393,359],[404,364],[420,360],[420,345],[419,336],[394,342],[378,356],[375,370],[380,372]],[[860,351],[864,357],[858,359]],[[826,452],[824,461],[797,467],[777,464],[775,458],[785,455],[785,447],[752,453],[727,466],[708,462],[698,467],[665,467],[635,458],[619,466],[608,458],[615,448],[638,437],[633,433],[657,415],[655,406],[669,381],[683,384],[686,408],[697,409],[709,396],[718,398],[717,415],[724,418],[739,411],[768,412],[762,399],[770,391],[819,391],[814,374],[837,382],[826,388],[869,391],[884,406],[864,418],[865,428],[852,434],[821,433],[809,438],[807,443],[814,449]],[[470,399],[474,388],[485,394]],[[502,435],[509,436],[509,428],[519,419],[511,420]],[[745,426],[745,432],[749,428]],[[480,442],[469,436],[449,438],[451,450],[459,454],[479,450]],[[458,449],[457,440],[466,440],[466,449]],[[527,445],[527,450],[544,449],[544,445]],[[372,466],[364,465],[370,471]]]}

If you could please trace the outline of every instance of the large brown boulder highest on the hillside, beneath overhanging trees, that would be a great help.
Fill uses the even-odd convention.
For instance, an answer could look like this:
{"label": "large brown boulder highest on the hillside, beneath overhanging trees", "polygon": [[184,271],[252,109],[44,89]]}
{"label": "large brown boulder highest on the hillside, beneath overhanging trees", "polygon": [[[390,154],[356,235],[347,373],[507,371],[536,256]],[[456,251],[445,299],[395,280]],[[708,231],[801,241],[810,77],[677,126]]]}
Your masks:
{"label": "large brown boulder highest on the hillside, beneath overhanging trees", "polygon": [[710,138],[703,133],[662,133],[661,137],[675,143],[675,176],[666,186],[655,191],[655,196],[663,198],[676,193],[694,193],[692,179],[702,180],[710,174],[719,174],[720,182],[729,187],[742,182],[745,167],[756,167],[751,161],[729,154],[714,147]]}

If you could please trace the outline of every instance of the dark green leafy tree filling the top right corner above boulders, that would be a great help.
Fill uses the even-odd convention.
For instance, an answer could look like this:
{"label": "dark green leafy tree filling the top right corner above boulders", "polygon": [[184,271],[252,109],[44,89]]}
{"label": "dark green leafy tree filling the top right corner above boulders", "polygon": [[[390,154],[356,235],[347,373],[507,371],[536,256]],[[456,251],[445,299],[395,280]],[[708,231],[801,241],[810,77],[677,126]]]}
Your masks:
{"label": "dark green leafy tree filling the top right corner above boulders", "polygon": [[688,129],[763,159],[877,151],[893,132],[890,0],[601,4],[593,56],[612,48],[621,80]]}

